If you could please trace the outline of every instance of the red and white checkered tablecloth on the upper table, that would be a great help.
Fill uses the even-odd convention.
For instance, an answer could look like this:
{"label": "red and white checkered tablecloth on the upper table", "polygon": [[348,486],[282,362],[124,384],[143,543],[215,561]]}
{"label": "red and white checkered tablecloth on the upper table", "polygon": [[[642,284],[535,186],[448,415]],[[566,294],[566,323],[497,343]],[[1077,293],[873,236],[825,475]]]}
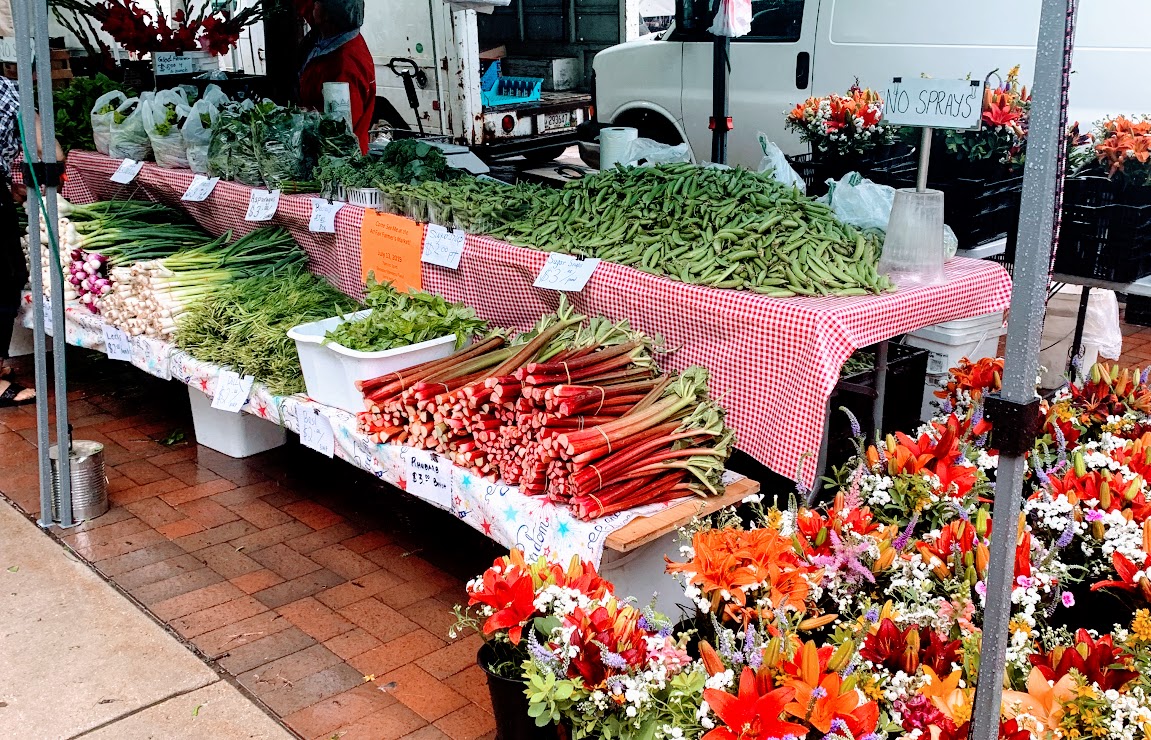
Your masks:
{"label": "red and white checkered tablecloth on the upper table", "polygon": [[[146,165],[130,185],[108,181],[119,162],[73,152],[66,197],[84,203],[107,198],[150,198],[186,208],[207,230],[237,235],[259,224],[245,222],[250,188],[221,182],[205,203],[182,204],[192,175]],[[306,196],[284,196],[272,223],[284,226],[307,251],[313,272],[359,297],[359,231],[363,209],[345,206],[336,234],[307,230]],[[467,236],[458,270],[424,265],[424,288],[473,306],[485,319],[528,328],[555,310],[558,295],[532,288],[547,254],[482,236]],[[860,298],[777,299],[755,293],[687,285],[630,267],[601,264],[573,306],[589,315],[627,319],[657,334],[674,352],[664,369],[703,365],[711,387],[738,433],[739,449],[773,471],[794,476],[803,453],[817,455],[828,398],[844,360],[856,349],[924,326],[1003,311],[1011,277],[994,262],[956,258],[947,282]],[[805,465],[810,485],[814,460]]]}

